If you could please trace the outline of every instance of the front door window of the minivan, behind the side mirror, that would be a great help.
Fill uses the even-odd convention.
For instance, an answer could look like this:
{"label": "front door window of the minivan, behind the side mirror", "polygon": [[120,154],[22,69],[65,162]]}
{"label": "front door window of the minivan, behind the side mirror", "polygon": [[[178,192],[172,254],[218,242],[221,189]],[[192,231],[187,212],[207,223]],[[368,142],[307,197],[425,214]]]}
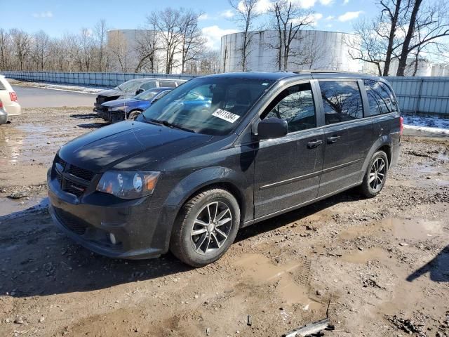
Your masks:
{"label": "front door window of the minivan, behind the side mirror", "polygon": [[262,117],[285,119],[289,133],[316,127],[314,96],[310,84],[290,86],[282,91],[270,103]]}

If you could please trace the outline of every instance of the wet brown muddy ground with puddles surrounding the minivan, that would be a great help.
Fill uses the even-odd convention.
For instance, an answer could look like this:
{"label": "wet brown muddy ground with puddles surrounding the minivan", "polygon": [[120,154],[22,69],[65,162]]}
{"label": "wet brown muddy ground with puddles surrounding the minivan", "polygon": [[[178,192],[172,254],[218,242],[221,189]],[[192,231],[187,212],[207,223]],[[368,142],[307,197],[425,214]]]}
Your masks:
{"label": "wet brown muddy ground with puddles surrounding the minivan", "polygon": [[192,269],[104,258],[52,225],[53,155],[102,125],[66,107],[0,126],[0,336],[281,336],[327,308],[325,336],[449,336],[448,138],[403,137],[375,199],[344,192],[247,227]]}

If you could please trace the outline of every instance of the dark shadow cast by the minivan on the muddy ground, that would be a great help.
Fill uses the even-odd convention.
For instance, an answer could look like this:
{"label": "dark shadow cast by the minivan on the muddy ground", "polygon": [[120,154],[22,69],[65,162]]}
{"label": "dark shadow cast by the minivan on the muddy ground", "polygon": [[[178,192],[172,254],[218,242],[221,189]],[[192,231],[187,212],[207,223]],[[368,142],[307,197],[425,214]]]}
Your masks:
{"label": "dark shadow cast by the minivan on the muddy ground", "polygon": [[[236,242],[300,220],[339,202],[357,199],[358,196],[351,193],[338,194],[242,228]],[[153,260],[126,261],[99,256],[62,234],[51,222],[46,207],[32,207],[1,216],[0,232],[0,291],[15,297],[93,291],[192,269],[170,253]]]}

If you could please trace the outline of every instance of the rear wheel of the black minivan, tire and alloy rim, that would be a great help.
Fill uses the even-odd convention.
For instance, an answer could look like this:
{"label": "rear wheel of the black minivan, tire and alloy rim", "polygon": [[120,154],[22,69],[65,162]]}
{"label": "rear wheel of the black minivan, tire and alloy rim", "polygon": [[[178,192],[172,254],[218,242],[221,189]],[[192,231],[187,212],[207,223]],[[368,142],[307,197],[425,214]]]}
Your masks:
{"label": "rear wheel of the black minivan, tire and alloy rim", "polygon": [[385,152],[377,151],[373,155],[360,187],[360,191],[365,197],[373,198],[382,191],[387,180],[388,165],[388,157]]}

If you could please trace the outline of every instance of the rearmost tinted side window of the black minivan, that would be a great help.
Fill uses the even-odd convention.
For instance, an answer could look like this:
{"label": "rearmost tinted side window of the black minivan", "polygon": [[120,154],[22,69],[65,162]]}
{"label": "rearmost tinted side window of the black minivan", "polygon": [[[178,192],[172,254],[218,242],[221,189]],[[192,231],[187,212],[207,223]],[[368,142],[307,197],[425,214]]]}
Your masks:
{"label": "rearmost tinted side window of the black minivan", "polygon": [[397,111],[394,95],[386,84],[373,79],[366,79],[363,84],[370,103],[371,116]]}

